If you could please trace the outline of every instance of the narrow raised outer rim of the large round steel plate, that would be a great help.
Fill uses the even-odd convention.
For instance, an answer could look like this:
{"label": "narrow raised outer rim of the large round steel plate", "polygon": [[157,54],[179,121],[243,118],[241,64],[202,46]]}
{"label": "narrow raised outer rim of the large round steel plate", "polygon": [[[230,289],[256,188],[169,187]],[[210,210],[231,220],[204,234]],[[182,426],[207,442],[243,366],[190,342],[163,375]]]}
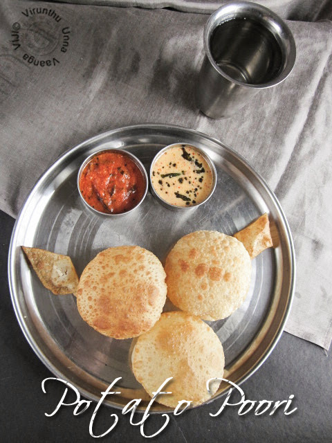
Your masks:
{"label": "narrow raised outer rim of the large round steel plate", "polygon": [[[190,128],[182,127],[179,125],[165,125],[165,124],[158,124],[158,123],[143,123],[143,124],[136,124],[136,125],[127,125],[127,126],[123,126],[123,127],[116,127],[114,129],[109,129],[107,131],[96,134],[90,138],[87,138],[86,140],[84,140],[84,141],[78,143],[77,145],[69,148],[68,150],[64,151],[62,154],[60,154],[57,157],[57,159],[55,159],[55,161],[39,176],[39,178],[35,182],[35,185],[28,193],[28,196],[24,200],[24,203],[22,204],[22,206],[19,210],[19,213],[17,215],[17,219],[16,219],[14,227],[12,229],[12,235],[10,238],[10,246],[9,246],[9,253],[8,253],[8,282],[9,282],[9,289],[10,289],[10,298],[12,300],[12,305],[13,305],[13,308],[15,311],[15,316],[17,318],[19,326],[21,327],[21,331],[23,332],[26,340],[28,341],[28,344],[33,349],[33,351],[35,352],[35,354],[37,355],[39,360],[42,361],[42,363],[46,366],[46,368],[48,368],[48,370],[50,370],[50,372],[55,374],[56,377],[61,378],[61,377],[59,377],[59,370],[57,370],[56,366],[53,365],[53,363],[51,363],[49,361],[49,359],[46,358],[46,356],[44,356],[43,352],[41,352],[41,350],[39,349],[39,346],[38,346],[37,342],[35,341],[35,338],[30,336],[28,326],[26,325],[26,322],[24,321],[24,316],[21,316],[19,301],[17,298],[17,294],[15,294],[15,282],[14,282],[14,280],[15,280],[14,279],[14,275],[15,275],[15,237],[17,235],[17,230],[19,228],[19,224],[21,223],[21,219],[24,216],[24,211],[26,210],[26,207],[28,206],[30,199],[33,199],[33,195],[35,194],[36,190],[39,188],[39,183],[42,183],[42,181],[46,177],[48,177],[48,175],[51,173],[51,171],[56,169],[57,166],[59,164],[61,164],[63,161],[65,161],[65,159],[67,157],[74,154],[75,151],[80,150],[82,147],[84,147],[84,145],[89,146],[89,145],[91,145],[91,143],[98,142],[98,140],[100,140],[102,138],[107,138],[107,136],[110,136],[110,135],[114,136],[117,133],[120,134],[121,132],[131,132],[131,131],[135,131],[137,129],[138,130],[145,130],[146,129],[146,130],[150,130],[150,131],[151,130],[154,130],[154,131],[159,130],[160,132],[172,131],[172,129],[176,130],[176,131],[184,131],[184,132],[188,132],[190,134],[193,134],[194,136],[200,136],[203,139],[207,139],[207,140],[211,141],[212,143],[221,146],[225,151],[230,153],[235,159],[240,161],[241,164],[244,165],[246,170],[248,170],[250,172],[250,174],[252,174],[253,176],[255,176],[258,179],[261,186],[263,186],[264,191],[267,193],[267,195],[270,197],[270,199],[272,199],[273,203],[275,204],[275,209],[279,213],[280,219],[282,220],[283,227],[284,227],[284,230],[286,233],[287,245],[288,245],[288,250],[289,250],[289,259],[290,259],[290,265],[291,265],[290,266],[291,269],[289,270],[290,271],[289,272],[290,280],[289,280],[289,284],[288,284],[288,302],[287,302],[286,308],[284,309],[284,314],[282,316],[282,320],[279,323],[277,333],[273,337],[273,340],[270,342],[270,345],[268,345],[268,347],[266,347],[266,350],[264,351],[263,354],[261,354],[260,358],[257,360],[255,365],[253,365],[252,368],[250,368],[248,373],[243,375],[243,377],[241,377],[241,379],[239,379],[239,381],[237,381],[237,385],[239,386],[244,381],[246,381],[248,378],[250,378],[252,376],[252,374],[254,374],[261,367],[261,365],[266,361],[266,359],[268,359],[268,356],[270,356],[271,352],[273,352],[273,350],[275,349],[275,346],[277,345],[277,343],[279,341],[279,338],[282,336],[282,332],[284,332],[284,326],[285,326],[288,316],[291,312],[291,306],[293,304],[293,296],[295,293],[295,280],[296,280],[295,248],[294,248],[294,244],[293,244],[293,237],[291,235],[291,229],[288,225],[288,221],[286,219],[286,215],[284,214],[284,210],[282,209],[282,206],[279,203],[279,200],[277,199],[273,190],[270,189],[266,180],[263,177],[261,177],[261,174],[259,174],[259,172],[257,172],[255,170],[255,168],[253,168],[252,165],[241,154],[239,154],[236,150],[234,150],[232,147],[225,145],[225,143],[223,143],[222,141],[220,141],[217,138],[214,138],[208,134],[204,134],[203,132],[196,131],[195,129],[190,129]],[[257,334],[259,334],[260,331],[261,331],[261,329],[259,329]],[[63,374],[61,374],[61,375],[63,375]],[[68,381],[70,381],[70,383],[73,386],[75,386],[75,388],[77,388],[82,393],[82,395],[84,395],[84,397],[92,399],[93,401],[99,400],[98,397],[96,397],[95,395],[91,394],[91,392],[82,388],[82,386],[78,386],[77,383],[73,382],[72,380],[68,380]],[[218,395],[214,395],[211,399],[209,399],[208,401],[205,401],[204,404],[209,404],[212,401],[214,401],[214,399],[222,397],[223,395],[225,395],[228,392],[228,390],[230,390],[230,388],[231,387],[223,390],[223,392],[220,392]],[[119,404],[113,404],[112,402],[104,402],[104,404],[107,406],[111,406],[113,408],[118,408],[118,409],[122,409],[122,407],[123,407]],[[201,405],[201,406],[203,406],[203,405]],[[194,406],[192,408],[196,408],[196,407],[199,407],[199,406]],[[160,409],[160,410],[149,410],[149,412],[150,413],[172,413],[172,410],[170,410],[169,408],[166,408],[166,407],[164,407],[164,408],[165,409]],[[144,412],[144,411],[145,411],[145,408],[143,408],[142,406],[137,408],[137,412]]]}

